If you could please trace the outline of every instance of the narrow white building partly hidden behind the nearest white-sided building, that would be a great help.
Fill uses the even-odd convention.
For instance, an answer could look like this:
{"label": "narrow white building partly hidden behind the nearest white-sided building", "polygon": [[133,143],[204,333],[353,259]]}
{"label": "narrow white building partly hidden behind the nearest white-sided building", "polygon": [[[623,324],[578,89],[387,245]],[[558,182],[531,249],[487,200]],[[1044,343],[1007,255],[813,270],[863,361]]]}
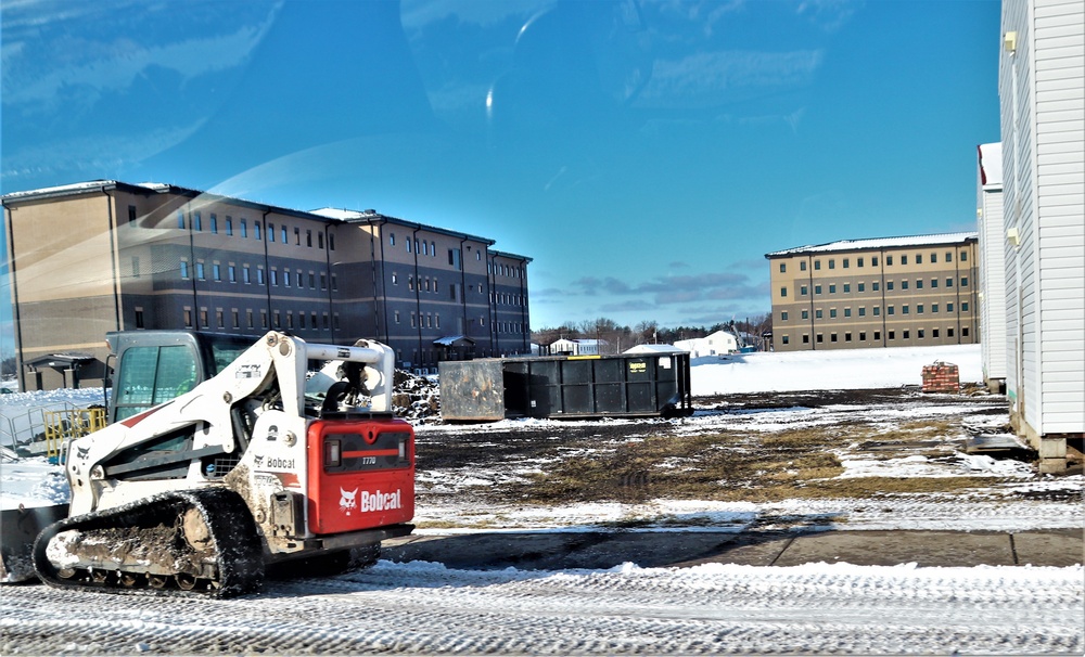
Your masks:
{"label": "narrow white building partly hidden behind the nearest white-sided building", "polygon": [[1003,236],[1003,145],[978,147],[975,218],[980,235],[980,353],[983,383],[1006,391],[1006,253]]}

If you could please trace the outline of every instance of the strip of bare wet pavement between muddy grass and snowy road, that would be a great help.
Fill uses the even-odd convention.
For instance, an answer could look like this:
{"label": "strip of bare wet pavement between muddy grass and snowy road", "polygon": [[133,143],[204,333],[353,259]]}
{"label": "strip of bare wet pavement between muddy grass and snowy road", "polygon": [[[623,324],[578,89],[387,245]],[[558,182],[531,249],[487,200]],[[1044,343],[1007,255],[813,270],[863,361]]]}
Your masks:
{"label": "strip of bare wet pavement between muddy grass and snowy road", "polygon": [[920,567],[1074,566],[1083,529],[1003,531],[576,531],[412,534],[383,543],[382,558],[449,568],[527,570],[700,564],[797,566],[848,563]]}

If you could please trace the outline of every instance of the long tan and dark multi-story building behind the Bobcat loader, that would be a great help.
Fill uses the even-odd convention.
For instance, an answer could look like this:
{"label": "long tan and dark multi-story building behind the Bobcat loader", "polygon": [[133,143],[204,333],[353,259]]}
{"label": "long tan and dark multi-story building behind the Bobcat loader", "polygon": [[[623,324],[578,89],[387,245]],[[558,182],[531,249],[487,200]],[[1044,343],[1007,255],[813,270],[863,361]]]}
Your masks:
{"label": "long tan and dark multi-story building behind the Bobcat loader", "polygon": [[118,330],[365,337],[416,370],[531,351],[531,258],[485,237],[108,180],[7,194],[3,208],[24,389],[100,385]]}

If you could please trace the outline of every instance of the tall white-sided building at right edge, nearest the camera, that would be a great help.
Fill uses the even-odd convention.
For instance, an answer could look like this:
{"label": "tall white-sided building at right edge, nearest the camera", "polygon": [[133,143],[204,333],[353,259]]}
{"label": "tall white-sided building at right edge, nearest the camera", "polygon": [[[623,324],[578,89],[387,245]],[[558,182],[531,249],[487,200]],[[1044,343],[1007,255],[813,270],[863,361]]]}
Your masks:
{"label": "tall white-sided building at right edge, nearest the camera", "polygon": [[1061,472],[1085,435],[1085,2],[1004,0],[1001,46],[1006,395]]}

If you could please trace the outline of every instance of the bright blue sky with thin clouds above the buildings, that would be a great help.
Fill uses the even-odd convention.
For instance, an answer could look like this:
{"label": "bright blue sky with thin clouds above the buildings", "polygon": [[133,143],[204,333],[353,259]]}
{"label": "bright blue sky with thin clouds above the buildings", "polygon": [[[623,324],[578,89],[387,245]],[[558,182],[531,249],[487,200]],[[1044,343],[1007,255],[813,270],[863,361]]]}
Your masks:
{"label": "bright blue sky with thin clouds above the buildings", "polygon": [[5,0],[0,189],[375,208],[533,258],[534,328],[711,325],[769,310],[768,252],[974,230],[999,12]]}

